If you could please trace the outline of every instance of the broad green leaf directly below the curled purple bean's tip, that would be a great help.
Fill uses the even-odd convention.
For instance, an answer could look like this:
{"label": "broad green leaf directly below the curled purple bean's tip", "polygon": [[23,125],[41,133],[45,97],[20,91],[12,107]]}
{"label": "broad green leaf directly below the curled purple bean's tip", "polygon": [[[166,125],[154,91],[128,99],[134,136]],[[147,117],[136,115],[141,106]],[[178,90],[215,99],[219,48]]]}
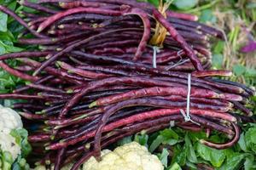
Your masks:
{"label": "broad green leaf directly below the curled purple bean's tip", "polygon": [[215,150],[204,144],[197,144],[197,152],[201,158],[210,161],[212,166],[220,167],[225,159],[224,150]]}

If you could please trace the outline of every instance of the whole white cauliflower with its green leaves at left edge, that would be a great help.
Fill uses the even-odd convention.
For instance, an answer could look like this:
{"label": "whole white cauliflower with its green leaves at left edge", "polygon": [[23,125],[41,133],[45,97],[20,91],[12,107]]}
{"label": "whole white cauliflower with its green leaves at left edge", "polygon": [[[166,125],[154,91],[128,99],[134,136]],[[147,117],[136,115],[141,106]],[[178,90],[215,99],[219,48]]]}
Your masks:
{"label": "whole white cauliflower with its green leaves at left edge", "polygon": [[31,146],[27,142],[27,131],[22,127],[20,115],[0,105],[0,169],[9,170],[13,163],[29,169],[22,156],[28,155]]}

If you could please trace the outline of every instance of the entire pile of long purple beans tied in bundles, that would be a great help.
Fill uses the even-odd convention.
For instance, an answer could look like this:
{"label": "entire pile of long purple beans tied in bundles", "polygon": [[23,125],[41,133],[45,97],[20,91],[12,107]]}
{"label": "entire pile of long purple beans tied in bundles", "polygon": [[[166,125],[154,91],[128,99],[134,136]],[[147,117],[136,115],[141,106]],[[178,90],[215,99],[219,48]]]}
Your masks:
{"label": "entire pile of long purple beans tied in bundles", "polygon": [[[240,137],[237,122],[254,121],[245,106],[253,89],[215,78],[230,71],[204,70],[211,62],[207,39],[223,35],[194,15],[166,11],[165,17],[133,0],[20,4],[40,13],[22,12],[26,23],[8,8],[0,10],[26,27],[19,43],[39,49],[0,56],[5,71],[29,82],[0,99],[26,100],[13,107],[25,118],[34,161],[54,163],[55,169],[75,161],[76,170],[109,144],[141,131],[154,133],[170,122],[185,130],[224,133],[223,144],[200,140],[224,149]],[[150,38],[158,24],[168,34],[154,63]],[[34,37],[26,38],[29,34]],[[20,65],[12,68],[6,59]],[[188,72],[190,122],[181,113],[187,109]]]}

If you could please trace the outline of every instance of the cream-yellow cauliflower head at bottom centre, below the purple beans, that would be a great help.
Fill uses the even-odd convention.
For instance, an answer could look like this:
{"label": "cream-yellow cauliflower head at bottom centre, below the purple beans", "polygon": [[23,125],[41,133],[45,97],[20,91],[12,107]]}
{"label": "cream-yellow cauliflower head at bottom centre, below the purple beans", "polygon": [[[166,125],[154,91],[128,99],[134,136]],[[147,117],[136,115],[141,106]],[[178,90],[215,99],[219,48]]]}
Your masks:
{"label": "cream-yellow cauliflower head at bottom centre, below the purple beans", "polygon": [[102,161],[91,157],[83,165],[83,170],[163,170],[157,156],[151,155],[147,148],[131,142],[113,151],[102,150]]}

